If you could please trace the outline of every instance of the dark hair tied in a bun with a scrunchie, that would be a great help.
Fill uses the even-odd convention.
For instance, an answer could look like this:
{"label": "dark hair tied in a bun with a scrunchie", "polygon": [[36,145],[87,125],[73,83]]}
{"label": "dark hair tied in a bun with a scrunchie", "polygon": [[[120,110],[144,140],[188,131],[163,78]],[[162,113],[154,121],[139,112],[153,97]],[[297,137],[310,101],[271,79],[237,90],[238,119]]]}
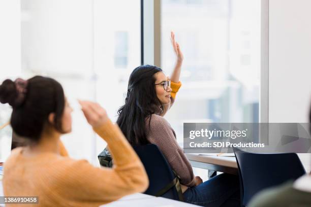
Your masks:
{"label": "dark hair tied in a bun with a scrunchie", "polygon": [[63,132],[61,117],[65,108],[65,95],[61,85],[51,78],[35,76],[22,80],[22,96],[20,86],[10,79],[0,85],[0,102],[9,103],[13,108],[11,126],[13,131],[37,143],[48,123],[48,116],[54,113],[53,127]]}

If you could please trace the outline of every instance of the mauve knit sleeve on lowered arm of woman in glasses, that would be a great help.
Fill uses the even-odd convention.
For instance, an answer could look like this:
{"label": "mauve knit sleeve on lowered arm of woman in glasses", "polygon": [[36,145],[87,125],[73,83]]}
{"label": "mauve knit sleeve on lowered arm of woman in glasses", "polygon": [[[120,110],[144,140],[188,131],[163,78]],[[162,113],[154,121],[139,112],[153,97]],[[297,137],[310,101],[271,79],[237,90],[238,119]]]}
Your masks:
{"label": "mauve knit sleeve on lowered arm of woman in glasses", "polygon": [[[148,121],[147,121],[148,124]],[[148,130],[148,140],[159,147],[172,169],[180,177],[180,183],[192,187],[195,185],[192,166],[176,141],[169,123],[161,116],[153,115]]]}

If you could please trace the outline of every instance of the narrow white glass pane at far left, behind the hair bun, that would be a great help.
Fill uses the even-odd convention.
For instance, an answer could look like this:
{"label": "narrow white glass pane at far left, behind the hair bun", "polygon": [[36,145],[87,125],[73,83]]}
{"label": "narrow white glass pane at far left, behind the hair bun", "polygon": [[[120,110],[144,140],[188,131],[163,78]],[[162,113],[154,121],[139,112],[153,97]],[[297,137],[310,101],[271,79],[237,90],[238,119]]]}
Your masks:
{"label": "narrow white glass pane at far left, behind the hair bun", "polygon": [[[0,83],[20,75],[20,2],[0,1]],[[12,129],[6,126],[12,109],[0,103],[0,162],[11,151]],[[1,176],[0,176],[1,177]]]}

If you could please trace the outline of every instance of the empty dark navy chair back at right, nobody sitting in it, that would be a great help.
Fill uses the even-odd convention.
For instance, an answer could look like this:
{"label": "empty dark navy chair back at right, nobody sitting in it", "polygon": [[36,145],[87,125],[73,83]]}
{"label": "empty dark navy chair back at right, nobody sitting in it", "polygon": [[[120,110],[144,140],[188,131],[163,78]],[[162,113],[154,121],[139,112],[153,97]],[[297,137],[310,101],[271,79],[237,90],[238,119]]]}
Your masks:
{"label": "empty dark navy chair back at right, nobody sitting in it", "polygon": [[296,180],[305,170],[295,153],[257,154],[233,148],[240,179],[241,206],[259,191]]}

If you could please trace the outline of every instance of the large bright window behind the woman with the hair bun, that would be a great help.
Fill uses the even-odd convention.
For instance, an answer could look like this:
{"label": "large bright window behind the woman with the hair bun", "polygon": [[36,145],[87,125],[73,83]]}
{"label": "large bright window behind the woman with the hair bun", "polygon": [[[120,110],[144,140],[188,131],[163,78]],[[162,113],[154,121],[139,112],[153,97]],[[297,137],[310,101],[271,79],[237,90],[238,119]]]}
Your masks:
{"label": "large bright window behind the woman with the hair bun", "polygon": [[[8,24],[9,32],[0,34],[5,43],[0,52],[6,52],[2,57],[8,57],[11,50],[14,54],[0,61],[1,81],[34,75],[59,81],[74,107],[73,131],[62,140],[72,157],[99,165],[97,155],[106,144],[87,124],[76,99],[100,102],[112,121],[116,120],[129,74],[141,63],[140,0],[5,2],[0,5],[6,8],[0,22],[2,28]],[[8,72],[11,67],[17,70],[12,75]],[[1,125],[11,111],[8,106],[0,110]],[[0,135],[4,133],[11,136],[10,130]],[[2,148],[9,149],[7,140],[1,139]]]}

